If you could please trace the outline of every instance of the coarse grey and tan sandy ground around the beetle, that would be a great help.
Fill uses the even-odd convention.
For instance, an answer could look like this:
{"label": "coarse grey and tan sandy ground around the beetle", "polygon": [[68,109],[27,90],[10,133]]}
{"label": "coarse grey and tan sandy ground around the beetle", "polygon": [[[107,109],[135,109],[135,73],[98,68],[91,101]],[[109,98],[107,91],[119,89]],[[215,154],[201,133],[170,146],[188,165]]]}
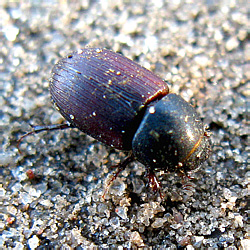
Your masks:
{"label": "coarse grey and tan sandy ground around the beetle", "polygon": [[[0,246],[249,249],[246,2],[42,2],[0,3]],[[50,72],[87,45],[167,80],[213,133],[212,156],[193,179],[157,172],[163,200],[137,162],[102,200],[111,166],[126,154],[77,129],[27,137],[17,151],[30,123],[63,122],[50,102]]]}

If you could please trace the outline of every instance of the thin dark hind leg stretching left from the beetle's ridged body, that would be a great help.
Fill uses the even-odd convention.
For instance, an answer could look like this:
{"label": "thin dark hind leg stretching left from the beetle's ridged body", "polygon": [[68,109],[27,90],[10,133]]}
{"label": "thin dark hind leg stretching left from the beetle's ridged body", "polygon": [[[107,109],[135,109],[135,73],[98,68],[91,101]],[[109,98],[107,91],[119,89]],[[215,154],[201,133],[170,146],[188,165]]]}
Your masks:
{"label": "thin dark hind leg stretching left from the beetle's ridged body", "polygon": [[70,123],[65,123],[65,124],[51,124],[51,125],[44,125],[44,126],[34,126],[32,124],[30,124],[32,130],[26,134],[24,134],[23,136],[21,136],[18,140],[17,140],[17,149],[19,154],[22,154],[22,151],[20,150],[20,143],[22,142],[22,140],[32,134],[38,134],[40,132],[43,131],[51,131],[51,130],[62,130],[62,129],[66,129],[66,128],[74,128],[73,125],[71,125]]}

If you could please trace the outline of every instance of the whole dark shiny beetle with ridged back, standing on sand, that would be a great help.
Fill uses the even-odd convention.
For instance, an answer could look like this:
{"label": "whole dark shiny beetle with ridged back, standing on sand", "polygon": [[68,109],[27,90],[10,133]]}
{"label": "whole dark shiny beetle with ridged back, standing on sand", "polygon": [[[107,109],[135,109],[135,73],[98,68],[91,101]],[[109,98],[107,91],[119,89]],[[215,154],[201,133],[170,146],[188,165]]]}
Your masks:
{"label": "whole dark shiny beetle with ridged back, standing on sand", "polygon": [[210,134],[195,109],[169,93],[161,78],[121,54],[102,48],[71,53],[52,69],[50,94],[68,123],[35,126],[19,143],[32,133],[78,128],[130,152],[113,179],[137,160],[146,166],[153,190],[159,189],[155,170],[185,174],[209,157]]}

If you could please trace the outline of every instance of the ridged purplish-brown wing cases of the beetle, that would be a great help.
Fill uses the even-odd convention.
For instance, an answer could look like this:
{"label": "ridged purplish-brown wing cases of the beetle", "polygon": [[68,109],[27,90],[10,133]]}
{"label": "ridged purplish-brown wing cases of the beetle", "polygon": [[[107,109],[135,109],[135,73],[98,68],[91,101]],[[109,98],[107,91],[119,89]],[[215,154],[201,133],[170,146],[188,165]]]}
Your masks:
{"label": "ridged purplish-brown wing cases of the beetle", "polygon": [[159,77],[128,58],[86,48],[54,66],[50,92],[72,125],[109,146],[130,150],[146,105],[169,90]]}

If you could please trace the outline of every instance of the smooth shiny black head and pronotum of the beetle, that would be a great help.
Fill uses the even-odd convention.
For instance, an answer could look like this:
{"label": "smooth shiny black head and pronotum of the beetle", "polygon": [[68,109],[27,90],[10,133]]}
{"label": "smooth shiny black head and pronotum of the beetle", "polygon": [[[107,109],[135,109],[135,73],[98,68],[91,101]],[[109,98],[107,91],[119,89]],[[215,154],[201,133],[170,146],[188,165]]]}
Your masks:
{"label": "smooth shiny black head and pronotum of the beetle", "polygon": [[132,150],[151,169],[187,172],[208,158],[210,140],[195,109],[180,96],[168,94],[147,108]]}

